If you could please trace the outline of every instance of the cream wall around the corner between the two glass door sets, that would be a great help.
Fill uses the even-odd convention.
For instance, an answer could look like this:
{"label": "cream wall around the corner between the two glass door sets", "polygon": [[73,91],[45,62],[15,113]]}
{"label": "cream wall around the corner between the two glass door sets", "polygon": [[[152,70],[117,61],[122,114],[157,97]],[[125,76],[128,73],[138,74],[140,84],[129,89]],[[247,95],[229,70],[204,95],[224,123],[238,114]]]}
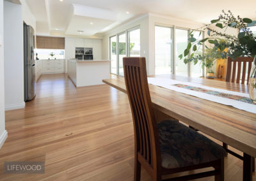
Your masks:
{"label": "cream wall around the corner between the two glass door sets", "polygon": [[131,29],[136,25],[140,25],[141,35],[141,57],[146,57],[147,73],[148,75],[155,74],[155,25],[175,26],[186,29],[197,29],[202,27],[202,24],[196,22],[189,22],[188,20],[177,19],[173,17],[166,17],[163,15],[142,15],[138,20],[131,20],[124,25],[111,29],[104,34],[102,40],[102,56],[103,59],[109,59],[109,37],[117,33],[122,33],[127,29]]}

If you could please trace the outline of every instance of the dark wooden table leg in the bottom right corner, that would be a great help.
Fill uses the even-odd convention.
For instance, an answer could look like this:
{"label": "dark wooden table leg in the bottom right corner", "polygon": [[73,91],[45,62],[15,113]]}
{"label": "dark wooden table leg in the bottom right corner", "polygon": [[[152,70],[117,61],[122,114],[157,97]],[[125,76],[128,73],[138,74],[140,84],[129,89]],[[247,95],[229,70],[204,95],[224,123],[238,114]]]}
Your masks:
{"label": "dark wooden table leg in the bottom right corner", "polygon": [[243,180],[252,181],[253,157],[244,153]]}

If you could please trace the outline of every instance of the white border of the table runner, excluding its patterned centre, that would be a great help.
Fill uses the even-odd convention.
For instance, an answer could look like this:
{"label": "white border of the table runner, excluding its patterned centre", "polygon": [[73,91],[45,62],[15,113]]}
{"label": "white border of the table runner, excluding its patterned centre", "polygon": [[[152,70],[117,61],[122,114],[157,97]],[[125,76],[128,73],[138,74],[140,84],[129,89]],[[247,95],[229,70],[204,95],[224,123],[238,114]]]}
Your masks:
{"label": "white border of the table runner, excluding its patterned centre", "polygon": [[177,91],[177,92],[182,92],[184,94],[188,94],[191,96],[195,96],[197,98],[202,98],[202,99],[206,99],[208,101],[213,101],[216,103],[220,103],[223,105],[228,105],[228,106],[233,106],[234,108],[240,109],[240,110],[245,110],[247,112],[252,112],[252,113],[256,113],[256,105],[253,105],[251,103],[246,103],[243,101],[238,101],[238,100],[234,100],[234,99],[230,99],[230,98],[223,98],[220,96],[214,96],[212,94],[207,94],[204,92],[198,92],[198,91],[193,91],[190,89],[186,89],[184,87],[177,87],[176,84],[181,84],[181,85],[188,85],[188,86],[192,86],[192,87],[198,87],[198,88],[202,88],[202,89],[207,89],[210,91],[216,91],[216,92],[221,92],[221,93],[225,93],[225,94],[231,94],[234,96],[241,96],[244,98],[250,98],[249,94],[244,94],[241,92],[234,92],[234,91],[227,91],[224,89],[216,89],[213,87],[207,87],[204,85],[201,85],[200,83],[192,83],[192,82],[181,82],[178,80],[172,80],[172,79],[168,79],[168,78],[148,78],[148,83],[152,84],[152,85],[157,85],[159,87],[164,87],[166,89],[170,89],[172,91]]}

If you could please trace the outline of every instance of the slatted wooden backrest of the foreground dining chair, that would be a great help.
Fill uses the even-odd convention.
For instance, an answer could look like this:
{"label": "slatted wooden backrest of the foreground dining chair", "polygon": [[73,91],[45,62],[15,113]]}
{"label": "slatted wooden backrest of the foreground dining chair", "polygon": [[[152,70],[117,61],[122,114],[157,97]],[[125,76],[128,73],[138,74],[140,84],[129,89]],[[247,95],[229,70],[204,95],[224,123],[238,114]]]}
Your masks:
{"label": "slatted wooden backrest of the foreground dining chair", "polygon": [[161,155],[156,119],[148,89],[145,57],[124,57],[124,77],[134,123],[136,152],[151,166]]}

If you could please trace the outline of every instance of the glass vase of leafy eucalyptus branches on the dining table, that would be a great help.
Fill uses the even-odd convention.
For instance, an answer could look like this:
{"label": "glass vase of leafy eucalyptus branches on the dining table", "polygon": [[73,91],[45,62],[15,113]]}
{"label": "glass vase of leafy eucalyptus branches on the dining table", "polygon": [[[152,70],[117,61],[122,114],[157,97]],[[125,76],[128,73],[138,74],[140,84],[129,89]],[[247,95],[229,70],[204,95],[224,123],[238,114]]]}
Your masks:
{"label": "glass vase of leafy eucalyptus branches on the dining table", "polygon": [[[252,71],[250,75],[249,91],[250,97],[256,102],[256,36],[253,35],[252,31],[248,27],[256,25],[256,20],[250,18],[235,17],[231,11],[226,13],[224,10],[221,15],[211,20],[211,24],[204,25],[201,29],[207,31],[208,38],[202,40],[196,40],[193,37],[192,32],[189,34],[188,47],[184,50],[184,57],[186,57],[190,50],[193,52],[189,59],[193,58],[197,51],[196,46],[205,46],[205,42],[211,44],[215,50],[223,50],[227,48],[227,52],[221,52],[221,57],[227,59],[227,57],[254,57]],[[219,27],[220,31],[213,29],[212,27]],[[236,29],[239,31],[237,36],[232,36],[226,33],[227,28]],[[223,43],[225,42],[225,43]],[[205,48],[209,48],[205,46]],[[182,56],[180,55],[180,59]],[[188,59],[184,59],[184,62],[189,62]]]}

